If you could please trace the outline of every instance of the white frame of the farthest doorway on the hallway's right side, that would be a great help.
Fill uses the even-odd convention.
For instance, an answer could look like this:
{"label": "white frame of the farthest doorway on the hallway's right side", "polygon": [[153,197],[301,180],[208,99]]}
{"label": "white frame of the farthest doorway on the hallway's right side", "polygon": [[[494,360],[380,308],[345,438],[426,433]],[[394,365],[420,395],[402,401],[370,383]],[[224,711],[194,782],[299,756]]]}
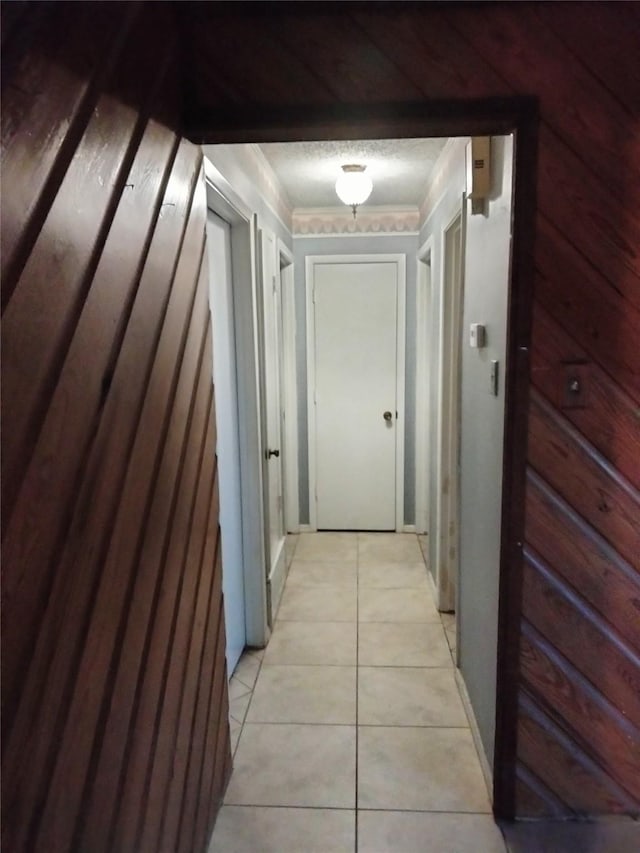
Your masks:
{"label": "white frame of the farthest doorway on the hallway's right side", "polygon": [[431,464],[432,418],[430,412],[433,364],[430,359],[432,317],[433,236],[418,250],[416,280],[416,533],[429,534],[431,505],[429,465]]}

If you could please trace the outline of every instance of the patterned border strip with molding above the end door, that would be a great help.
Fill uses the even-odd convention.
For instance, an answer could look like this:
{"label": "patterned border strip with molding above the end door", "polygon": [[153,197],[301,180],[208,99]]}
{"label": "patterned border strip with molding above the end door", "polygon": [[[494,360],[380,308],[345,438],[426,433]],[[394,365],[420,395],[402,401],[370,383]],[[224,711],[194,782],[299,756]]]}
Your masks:
{"label": "patterned border strip with molding above the end door", "polygon": [[294,237],[331,237],[359,234],[417,234],[420,211],[414,206],[294,208],[291,222]]}

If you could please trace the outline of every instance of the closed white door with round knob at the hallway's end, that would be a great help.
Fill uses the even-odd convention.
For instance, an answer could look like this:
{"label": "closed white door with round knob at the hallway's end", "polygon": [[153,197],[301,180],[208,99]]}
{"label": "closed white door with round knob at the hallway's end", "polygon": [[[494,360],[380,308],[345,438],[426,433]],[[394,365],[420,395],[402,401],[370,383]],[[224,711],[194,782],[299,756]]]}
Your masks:
{"label": "closed white door with round knob at the hallway's end", "polygon": [[313,282],[317,528],[395,530],[398,265],[319,263]]}

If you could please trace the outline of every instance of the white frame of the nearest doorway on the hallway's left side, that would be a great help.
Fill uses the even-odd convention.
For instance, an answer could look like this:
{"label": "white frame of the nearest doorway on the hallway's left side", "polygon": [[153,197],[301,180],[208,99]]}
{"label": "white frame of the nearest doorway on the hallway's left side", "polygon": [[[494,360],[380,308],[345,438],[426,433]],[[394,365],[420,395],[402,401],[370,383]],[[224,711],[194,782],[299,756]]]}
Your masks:
{"label": "white frame of the nearest doorway on the hallway's left side", "polygon": [[256,234],[251,211],[205,157],[207,206],[231,225],[233,312],[240,426],[242,556],[247,645],[269,639],[262,485]]}

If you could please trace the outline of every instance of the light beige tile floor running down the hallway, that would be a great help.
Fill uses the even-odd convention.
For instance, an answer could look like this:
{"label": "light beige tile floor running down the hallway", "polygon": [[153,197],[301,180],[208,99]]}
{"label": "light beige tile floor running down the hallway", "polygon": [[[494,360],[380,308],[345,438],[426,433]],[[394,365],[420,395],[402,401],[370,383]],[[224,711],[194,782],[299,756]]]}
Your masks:
{"label": "light beige tile floor running down the hallway", "polygon": [[301,534],[210,853],[504,853],[415,535]]}

